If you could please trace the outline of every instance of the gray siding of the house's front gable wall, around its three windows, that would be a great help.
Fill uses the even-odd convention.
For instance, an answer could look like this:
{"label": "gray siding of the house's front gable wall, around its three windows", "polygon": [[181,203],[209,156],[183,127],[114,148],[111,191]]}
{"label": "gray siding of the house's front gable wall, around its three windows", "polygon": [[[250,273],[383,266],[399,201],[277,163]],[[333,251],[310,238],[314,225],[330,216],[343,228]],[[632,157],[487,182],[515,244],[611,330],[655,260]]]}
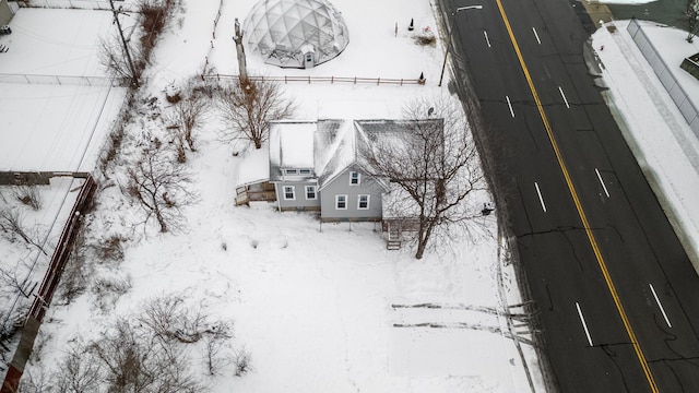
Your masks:
{"label": "gray siding of the house's front gable wall, around its three windows", "polygon": [[[350,172],[360,174],[359,186],[350,186]],[[383,188],[374,178],[356,167],[345,169],[340,176],[324,186],[321,193],[321,216],[324,222],[332,221],[380,221],[381,193]],[[358,209],[360,194],[369,195],[369,209]],[[335,209],[335,196],[347,195],[347,209]]]}

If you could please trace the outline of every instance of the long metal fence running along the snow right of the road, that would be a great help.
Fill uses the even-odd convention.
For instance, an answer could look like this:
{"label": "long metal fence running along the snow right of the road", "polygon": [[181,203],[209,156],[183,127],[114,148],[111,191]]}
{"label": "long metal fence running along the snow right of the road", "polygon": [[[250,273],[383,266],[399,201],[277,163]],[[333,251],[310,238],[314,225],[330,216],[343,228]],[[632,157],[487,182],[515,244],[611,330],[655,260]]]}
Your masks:
{"label": "long metal fence running along the snow right of the road", "polygon": [[[653,72],[655,72],[655,75],[657,75],[657,79],[667,91],[667,94],[673,98],[673,102],[685,120],[687,120],[691,131],[697,138],[699,138],[699,110],[691,99],[689,99],[687,92],[685,92],[682,85],[677,82],[677,79],[671,71],[670,67],[667,67],[665,60],[660,56],[657,49],[655,49],[655,46],[649,39],[645,32],[643,32],[643,27],[636,17],[631,19],[626,31],[629,33],[633,43],[636,43],[636,46],[653,69]],[[679,64],[676,67],[679,68]]]}

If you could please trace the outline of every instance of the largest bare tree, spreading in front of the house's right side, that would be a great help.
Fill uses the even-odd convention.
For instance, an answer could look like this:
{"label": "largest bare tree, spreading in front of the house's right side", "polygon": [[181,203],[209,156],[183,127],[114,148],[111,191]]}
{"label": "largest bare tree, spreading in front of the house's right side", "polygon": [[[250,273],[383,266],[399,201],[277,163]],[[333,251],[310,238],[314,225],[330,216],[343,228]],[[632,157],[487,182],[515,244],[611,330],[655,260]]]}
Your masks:
{"label": "largest bare tree, spreading in front of the house's right side", "polygon": [[[426,117],[428,117],[426,119]],[[374,175],[393,186],[394,216],[417,226],[420,259],[433,235],[478,215],[467,196],[486,188],[462,109],[447,99],[416,100],[405,108],[404,131],[383,134],[367,148]],[[387,199],[390,202],[390,198]]]}

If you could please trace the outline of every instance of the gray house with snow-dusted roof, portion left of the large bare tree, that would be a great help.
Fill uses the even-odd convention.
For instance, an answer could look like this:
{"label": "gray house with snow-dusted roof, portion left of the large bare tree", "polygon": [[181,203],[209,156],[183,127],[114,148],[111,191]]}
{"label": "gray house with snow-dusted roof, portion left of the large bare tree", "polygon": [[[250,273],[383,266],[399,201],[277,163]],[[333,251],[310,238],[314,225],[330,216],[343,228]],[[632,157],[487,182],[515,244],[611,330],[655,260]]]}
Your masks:
{"label": "gray house with snow-dusted roof, portion left of the large bare tree", "polygon": [[270,182],[281,211],[319,211],[321,221],[378,222],[387,179],[365,159],[392,120],[276,121],[270,124]]}

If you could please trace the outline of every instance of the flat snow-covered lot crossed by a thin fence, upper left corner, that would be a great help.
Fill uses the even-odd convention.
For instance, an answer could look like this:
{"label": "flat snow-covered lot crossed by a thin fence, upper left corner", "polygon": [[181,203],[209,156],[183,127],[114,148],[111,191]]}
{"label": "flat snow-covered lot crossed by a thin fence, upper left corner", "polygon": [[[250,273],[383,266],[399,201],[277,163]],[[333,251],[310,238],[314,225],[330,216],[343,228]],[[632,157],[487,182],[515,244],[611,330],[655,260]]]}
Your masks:
{"label": "flat snow-covered lot crossed by a thin fence, upper left corner", "polygon": [[[91,171],[123,104],[99,63],[111,12],[20,9],[0,61],[0,170]],[[88,32],[88,33],[86,33]]]}

